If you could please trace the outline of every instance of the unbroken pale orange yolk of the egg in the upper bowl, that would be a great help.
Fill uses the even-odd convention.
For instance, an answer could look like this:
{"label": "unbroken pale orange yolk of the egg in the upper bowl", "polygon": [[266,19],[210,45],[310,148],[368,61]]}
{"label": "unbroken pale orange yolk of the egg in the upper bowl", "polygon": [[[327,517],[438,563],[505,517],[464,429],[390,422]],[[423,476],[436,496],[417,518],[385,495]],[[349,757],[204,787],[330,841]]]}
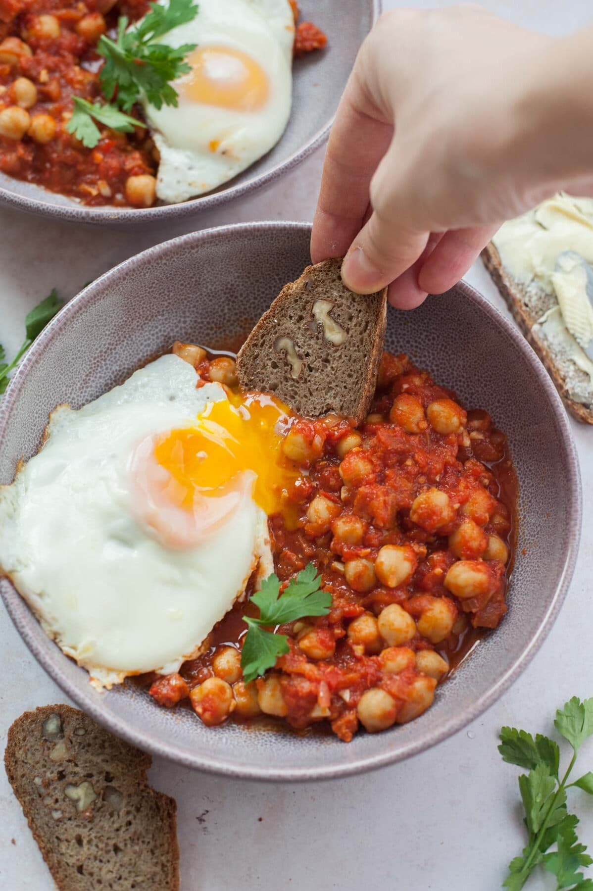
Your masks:
{"label": "unbroken pale orange yolk of the egg in the upper bowl", "polygon": [[191,102],[238,111],[262,108],[270,92],[267,75],[255,59],[229,46],[199,46],[187,57],[191,71],[180,92]]}

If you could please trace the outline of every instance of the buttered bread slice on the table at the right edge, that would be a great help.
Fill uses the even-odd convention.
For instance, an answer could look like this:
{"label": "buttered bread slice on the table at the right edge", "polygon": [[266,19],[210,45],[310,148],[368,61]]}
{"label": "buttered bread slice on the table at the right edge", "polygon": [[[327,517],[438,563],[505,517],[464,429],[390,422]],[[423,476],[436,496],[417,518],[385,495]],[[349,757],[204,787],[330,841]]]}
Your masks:
{"label": "buttered bread slice on the table at the right edge", "polygon": [[593,310],[578,262],[593,265],[593,200],[543,201],[503,224],[482,257],[566,407],[593,424]]}

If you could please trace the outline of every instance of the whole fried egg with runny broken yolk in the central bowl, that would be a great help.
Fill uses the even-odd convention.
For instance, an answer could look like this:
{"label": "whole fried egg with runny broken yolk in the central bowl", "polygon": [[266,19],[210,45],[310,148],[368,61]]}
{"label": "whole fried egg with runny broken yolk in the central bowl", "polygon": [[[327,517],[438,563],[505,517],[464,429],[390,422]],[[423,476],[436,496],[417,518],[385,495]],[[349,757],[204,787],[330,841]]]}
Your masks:
{"label": "whole fried egg with runny broken yolk in the central bowl", "polygon": [[280,448],[287,412],[162,356],[58,408],[0,486],[0,571],[95,686],[176,671],[252,573],[273,571],[267,515],[298,474]]}

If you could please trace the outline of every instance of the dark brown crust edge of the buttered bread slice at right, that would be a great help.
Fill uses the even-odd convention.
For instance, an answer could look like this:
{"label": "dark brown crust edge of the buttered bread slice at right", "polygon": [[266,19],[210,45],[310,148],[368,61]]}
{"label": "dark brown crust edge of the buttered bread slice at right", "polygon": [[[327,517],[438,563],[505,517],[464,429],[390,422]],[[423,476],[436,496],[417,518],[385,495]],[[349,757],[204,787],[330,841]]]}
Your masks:
{"label": "dark brown crust edge of the buttered bread slice at right", "polygon": [[532,326],[536,323],[536,319],[532,317],[532,314],[529,313],[527,308],[524,306],[524,302],[521,299],[521,288],[517,282],[508,275],[505,267],[502,265],[500,260],[500,255],[498,250],[494,247],[492,242],[487,244],[486,247],[482,251],[482,260],[483,265],[486,267],[488,272],[491,274],[492,281],[496,285],[496,287],[500,290],[500,294],[505,299],[505,302],[508,306],[508,309],[513,315],[516,323],[518,324],[521,331],[523,331],[525,338],[532,345],[533,349],[540,357],[541,362],[544,364],[546,371],[548,372],[551,379],[554,381],[556,389],[567,408],[567,410],[576,418],[577,421],[581,421],[584,424],[593,424],[593,408],[587,408],[585,405],[582,405],[579,402],[575,402],[574,399],[571,398],[568,394],[568,390],[565,386],[565,381],[562,376],[558,372],[556,367],[556,362],[554,360],[554,356],[548,350],[548,347],[540,340],[540,338],[535,337],[532,333]]}

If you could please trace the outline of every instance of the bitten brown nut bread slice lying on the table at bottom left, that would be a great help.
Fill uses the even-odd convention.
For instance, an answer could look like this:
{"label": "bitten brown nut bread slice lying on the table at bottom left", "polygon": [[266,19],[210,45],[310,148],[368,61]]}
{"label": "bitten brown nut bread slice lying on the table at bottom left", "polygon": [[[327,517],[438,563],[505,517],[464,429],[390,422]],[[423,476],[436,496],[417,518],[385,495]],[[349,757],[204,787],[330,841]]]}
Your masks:
{"label": "bitten brown nut bread slice lying on the table at bottom left", "polygon": [[77,708],[12,724],[6,773],[60,891],[178,891],[175,800],[150,789],[150,761]]}

